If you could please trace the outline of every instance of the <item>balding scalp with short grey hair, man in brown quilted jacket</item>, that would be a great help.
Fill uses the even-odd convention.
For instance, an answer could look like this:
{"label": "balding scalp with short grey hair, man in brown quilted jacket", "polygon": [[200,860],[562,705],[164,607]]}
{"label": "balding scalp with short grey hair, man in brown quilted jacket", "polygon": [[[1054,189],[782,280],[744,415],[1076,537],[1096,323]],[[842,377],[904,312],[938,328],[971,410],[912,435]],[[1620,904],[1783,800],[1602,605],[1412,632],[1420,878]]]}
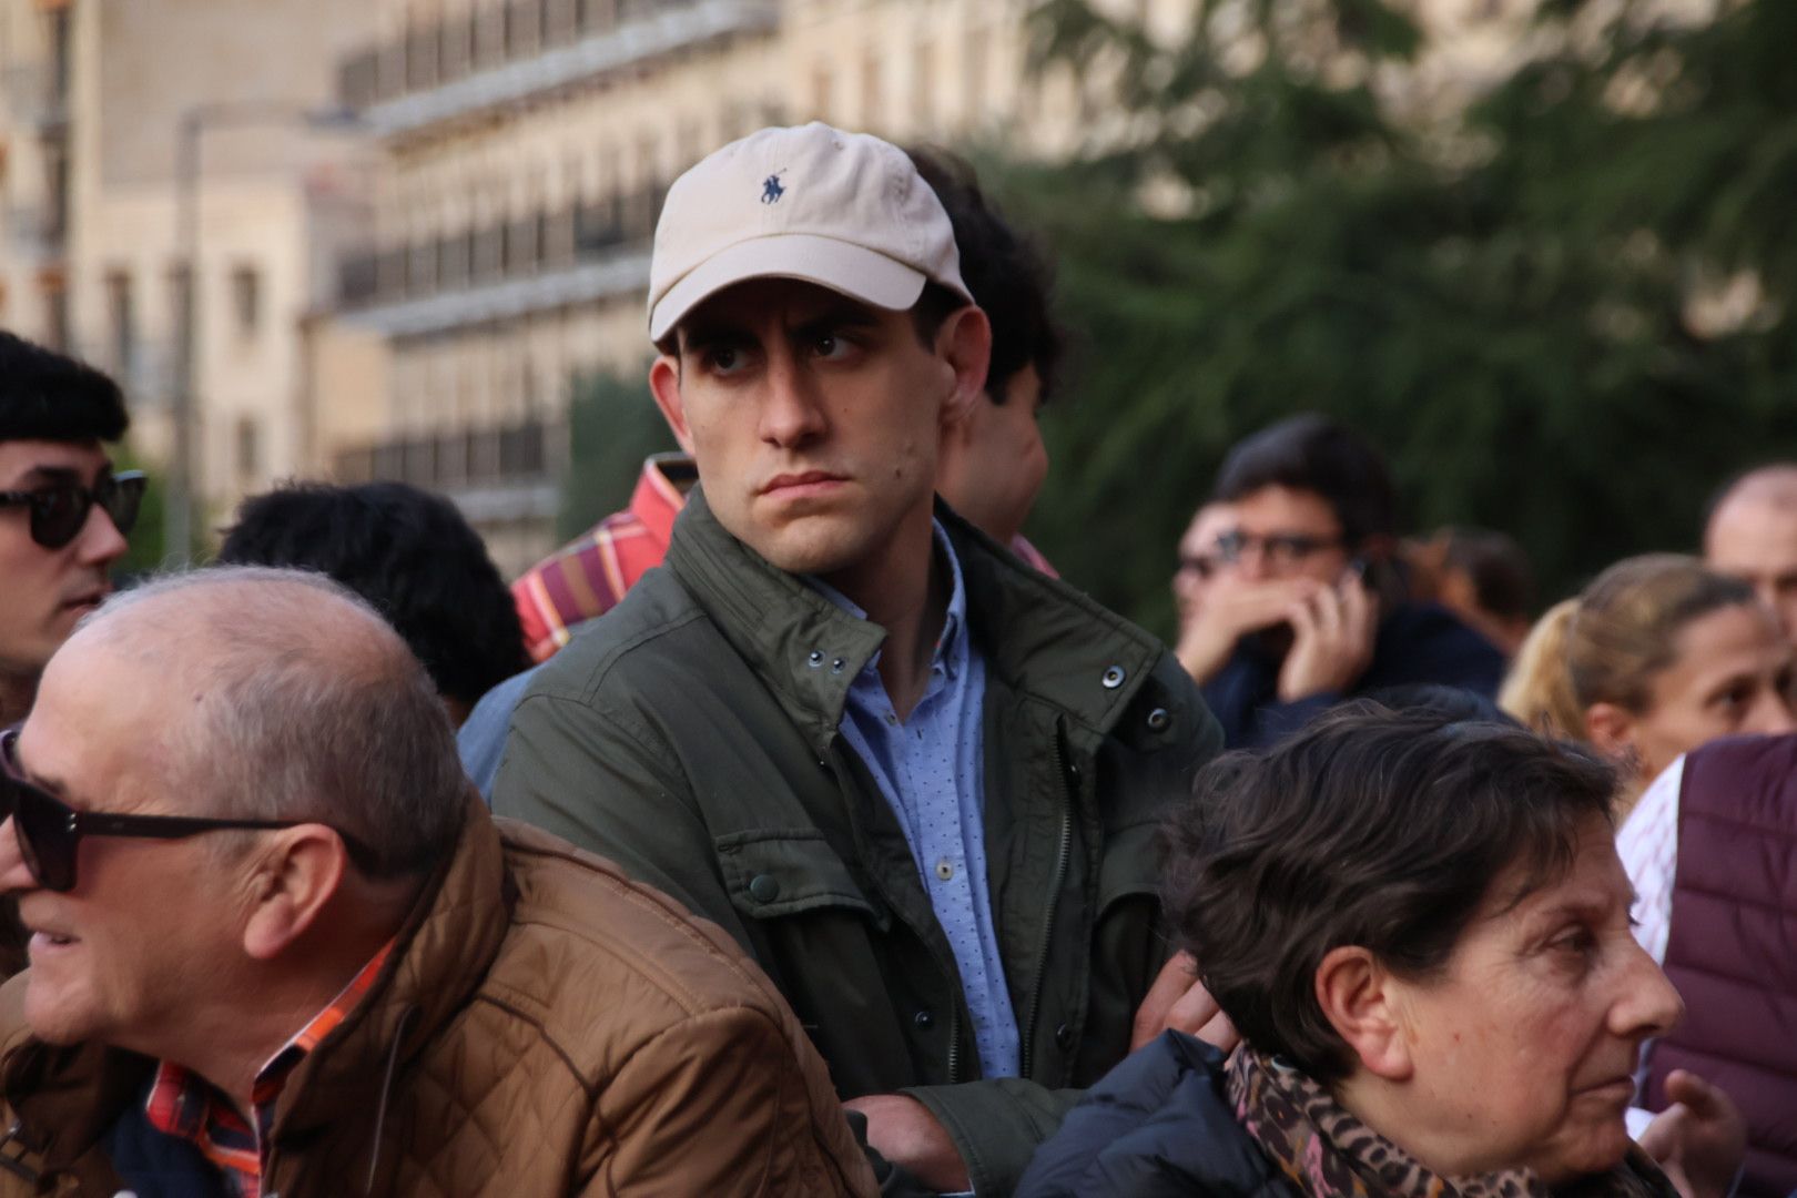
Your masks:
{"label": "balding scalp with short grey hair, man in brown quilted jacket", "polygon": [[467,781],[437,688],[323,575],[212,568],[119,595],[52,657],[52,686],[104,688],[160,747],[147,785],[194,814],[323,819],[381,876],[422,873],[460,832]]}

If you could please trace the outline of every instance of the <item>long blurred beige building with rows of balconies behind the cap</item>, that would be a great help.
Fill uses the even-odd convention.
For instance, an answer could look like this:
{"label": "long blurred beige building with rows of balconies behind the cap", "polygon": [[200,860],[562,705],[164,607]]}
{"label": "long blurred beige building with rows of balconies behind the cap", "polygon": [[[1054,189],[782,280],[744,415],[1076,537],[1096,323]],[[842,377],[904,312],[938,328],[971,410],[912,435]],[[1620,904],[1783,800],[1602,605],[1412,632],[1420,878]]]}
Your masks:
{"label": "long blurred beige building with rows of balconies behind the cap", "polygon": [[[895,140],[1073,129],[1026,0],[383,0],[340,99],[388,151],[314,377],[356,392],[320,467],[455,498],[507,571],[550,548],[570,390],[642,374],[668,183],[766,124]],[[1067,110],[1058,120],[1057,111]],[[1028,115],[1028,120],[1021,120]],[[383,365],[343,372],[341,339]],[[350,415],[354,413],[354,415]]]}

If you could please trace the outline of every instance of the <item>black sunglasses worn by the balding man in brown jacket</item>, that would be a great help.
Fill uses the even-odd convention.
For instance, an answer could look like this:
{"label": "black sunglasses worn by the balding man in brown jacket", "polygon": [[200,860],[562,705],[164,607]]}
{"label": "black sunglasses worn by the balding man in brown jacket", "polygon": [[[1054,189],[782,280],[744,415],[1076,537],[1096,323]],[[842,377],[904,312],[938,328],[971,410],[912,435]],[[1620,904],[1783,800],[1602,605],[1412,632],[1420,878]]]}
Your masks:
{"label": "black sunglasses worn by the balding man in brown jacket", "polygon": [[[81,837],[137,837],[181,841],[201,832],[297,828],[314,819],[205,819],[196,815],[108,815],[77,812],[54,794],[25,780],[18,765],[18,729],[0,731],[0,819],[11,817],[20,857],[38,885],[47,891],[75,889],[75,859]],[[336,832],[336,828],[332,828]],[[374,853],[338,832],[350,859],[367,869]]]}

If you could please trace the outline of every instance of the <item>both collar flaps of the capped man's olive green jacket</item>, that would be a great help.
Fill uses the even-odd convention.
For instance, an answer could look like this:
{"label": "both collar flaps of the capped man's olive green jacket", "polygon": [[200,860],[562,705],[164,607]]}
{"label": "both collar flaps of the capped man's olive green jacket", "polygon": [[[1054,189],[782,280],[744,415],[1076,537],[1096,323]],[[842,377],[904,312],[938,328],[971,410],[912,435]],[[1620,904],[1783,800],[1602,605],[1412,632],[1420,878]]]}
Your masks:
{"label": "both collar flaps of the capped man's olive green jacket", "polygon": [[[967,587],[967,627],[987,675],[1109,733],[1164,652],[1161,643],[1073,587],[1030,569],[942,499]],[[823,753],[843,722],[848,686],[886,630],[843,611],[730,535],[703,485],[674,524],[667,566],[767,683],[787,717]]]}

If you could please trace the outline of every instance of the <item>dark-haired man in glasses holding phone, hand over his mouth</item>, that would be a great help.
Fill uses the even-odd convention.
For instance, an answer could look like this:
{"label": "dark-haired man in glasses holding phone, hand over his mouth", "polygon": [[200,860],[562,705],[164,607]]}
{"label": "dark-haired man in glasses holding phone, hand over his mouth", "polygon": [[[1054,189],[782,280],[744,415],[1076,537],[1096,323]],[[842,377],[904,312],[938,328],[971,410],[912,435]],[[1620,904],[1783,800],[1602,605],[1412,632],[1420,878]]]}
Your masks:
{"label": "dark-haired man in glasses holding phone, hand over his mouth", "polygon": [[1380,454],[1317,415],[1229,451],[1213,501],[1235,526],[1181,629],[1181,665],[1231,747],[1265,745],[1351,697],[1416,683],[1492,697],[1504,656],[1447,609],[1411,602],[1398,499]]}

